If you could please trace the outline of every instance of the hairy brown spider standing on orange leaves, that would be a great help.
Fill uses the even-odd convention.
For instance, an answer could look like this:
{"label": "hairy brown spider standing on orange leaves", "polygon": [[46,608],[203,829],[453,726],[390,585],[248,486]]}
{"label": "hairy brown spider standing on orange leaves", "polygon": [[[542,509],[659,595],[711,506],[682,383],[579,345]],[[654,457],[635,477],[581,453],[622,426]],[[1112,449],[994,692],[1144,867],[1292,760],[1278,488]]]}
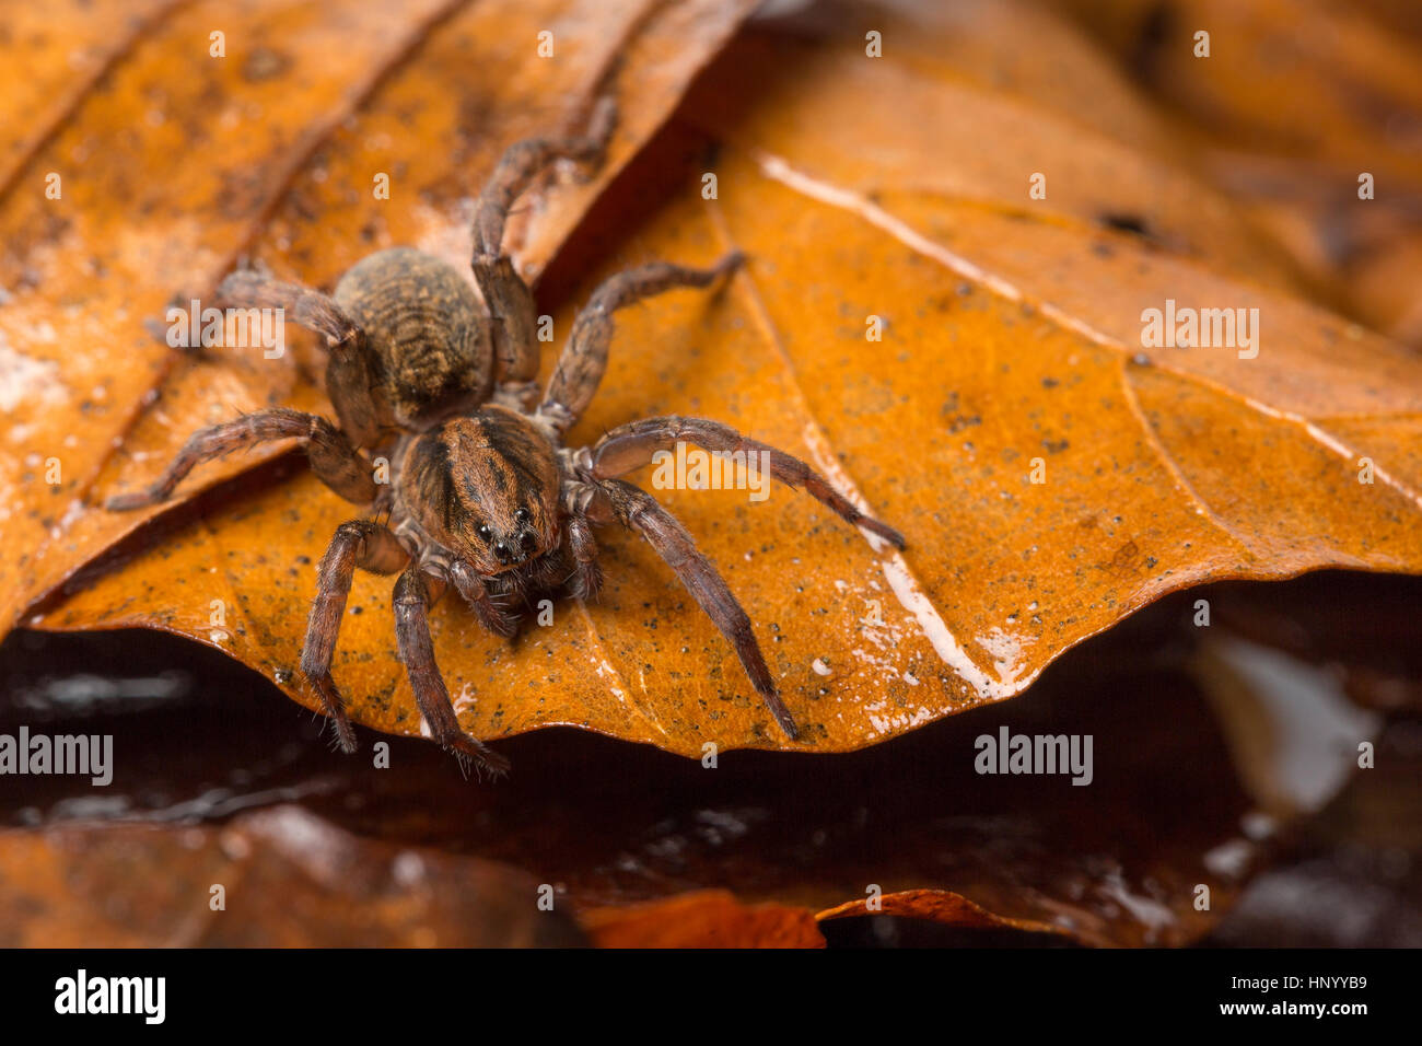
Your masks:
{"label": "hairy brown spider standing on orange leaves", "polygon": [[[218,290],[225,303],[283,307],[324,336],[326,387],[338,424],[273,407],[202,428],[151,487],[107,502],[111,511],[158,504],[203,461],[296,438],[319,480],[368,509],[371,518],[336,529],[317,566],[301,650],[301,670],[346,751],[356,750],[356,731],[331,677],[331,657],[357,569],[398,574],[392,603],[400,660],[432,739],[498,776],[508,760],[466,734],[455,717],[429,640],[429,608],[454,586],[483,628],[512,638],[519,605],[538,596],[596,596],[603,575],[593,528],[613,522],[641,534],[661,555],[729,640],[776,723],[798,737],[751,620],[725,581],[665,508],[620,478],[678,441],[768,461],[774,480],[803,487],[845,521],[904,545],[897,531],[863,515],[803,461],[717,421],[656,417],[613,428],[590,447],[563,445],[603,377],[613,313],[671,287],[710,286],[744,260],[731,253],[707,269],[653,262],[611,276],[577,315],[539,397],[536,310],[503,253],[505,221],[552,162],[600,164],[614,122],[616,107],[604,98],[583,137],[530,138],[503,154],[474,215],[474,280],[485,305],[458,269],[411,248],[364,258],[331,295],[256,270],[229,275]],[[363,451],[387,457],[388,482],[375,482]]]}

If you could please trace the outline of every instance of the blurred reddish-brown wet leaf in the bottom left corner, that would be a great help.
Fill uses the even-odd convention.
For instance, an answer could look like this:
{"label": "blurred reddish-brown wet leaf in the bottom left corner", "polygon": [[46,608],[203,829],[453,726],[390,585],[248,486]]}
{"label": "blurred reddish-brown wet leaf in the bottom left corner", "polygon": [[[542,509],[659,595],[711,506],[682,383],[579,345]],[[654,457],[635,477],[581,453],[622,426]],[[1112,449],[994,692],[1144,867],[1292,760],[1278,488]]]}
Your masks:
{"label": "blurred reddish-brown wet leaf in the bottom left corner", "polygon": [[538,884],[354,838],[289,805],[222,828],[0,833],[6,948],[577,946]]}

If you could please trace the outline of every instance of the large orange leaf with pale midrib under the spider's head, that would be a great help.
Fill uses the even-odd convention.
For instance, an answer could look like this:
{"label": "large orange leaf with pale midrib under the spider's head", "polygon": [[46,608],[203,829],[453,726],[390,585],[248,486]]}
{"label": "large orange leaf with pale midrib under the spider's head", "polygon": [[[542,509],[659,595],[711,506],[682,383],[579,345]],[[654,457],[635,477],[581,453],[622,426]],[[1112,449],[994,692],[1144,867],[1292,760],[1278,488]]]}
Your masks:
{"label": "large orange leaf with pale midrib under the spider's head", "polygon": [[[802,747],[856,749],[1011,697],[1072,645],[1193,583],[1418,569],[1422,363],[1293,296],[1224,198],[1059,110],[948,78],[924,40],[951,24],[884,19],[917,41],[909,58],[866,60],[852,21],[738,37],[552,275],[567,330],[626,265],[747,250],[721,292],[619,316],[572,440],[660,413],[727,420],[909,537],[883,555],[784,491],[764,504],[658,491],[757,622]],[[1007,46],[998,31],[956,50],[983,65]],[[855,131],[869,125],[873,157]],[[1004,145],[961,148],[988,139]],[[1012,149],[1032,141],[1055,158],[1038,209],[1007,188],[1031,159]],[[1258,309],[1257,357],[1140,349],[1142,310],[1175,299]],[[866,342],[867,317],[882,342]],[[314,706],[296,672],[310,564],[348,517],[304,474],[215,501],[36,622],[169,629]],[[602,601],[563,603],[512,645],[441,606],[435,650],[465,729],[576,724],[688,756],[786,747],[657,556],[620,532],[600,542]],[[336,679],[358,722],[415,734],[388,589],[357,579]],[[230,609],[220,625],[213,601]]]}

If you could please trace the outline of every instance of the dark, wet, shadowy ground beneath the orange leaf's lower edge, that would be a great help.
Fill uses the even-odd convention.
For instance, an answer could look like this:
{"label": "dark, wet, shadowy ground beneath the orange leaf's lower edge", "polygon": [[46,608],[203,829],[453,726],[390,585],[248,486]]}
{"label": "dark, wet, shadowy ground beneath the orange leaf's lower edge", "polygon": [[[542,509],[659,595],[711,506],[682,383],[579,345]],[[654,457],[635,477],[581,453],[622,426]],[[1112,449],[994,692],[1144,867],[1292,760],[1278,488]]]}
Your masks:
{"label": "dark, wet, shadowy ground beneath the orange leaf's lower edge", "polygon": [[[1213,677],[1199,670],[1204,633],[1189,625],[1196,592],[1068,655],[1024,697],[863,753],[728,753],[711,773],[644,746],[546,730],[501,743],[515,776],[495,786],[464,780],[415,739],[363,731],[361,754],[333,753],[311,713],[185,640],[18,632],[0,648],[0,733],[111,733],[117,770],[107,788],[0,778],[0,824],[222,825],[296,804],[357,838],[492,858],[584,905],[725,887],[815,908],[877,882],[957,888],[1000,914],[1055,916],[1088,941],[1172,944],[1207,931],[1203,944],[1220,946],[1422,945],[1422,666],[1406,640],[1422,582],[1331,574],[1204,593],[1209,642],[1267,640],[1386,709],[1376,767],[1332,787],[1320,813],[1276,808],[1273,830],[1241,831],[1261,808],[1258,781],[1246,778],[1280,741],[1258,722],[1243,741],[1239,723],[1221,726],[1200,682]],[[1281,714],[1307,720],[1288,700]],[[1092,733],[1092,786],[974,774],[973,739],[1000,724]],[[375,740],[390,741],[390,770],[371,767]],[[1304,744],[1291,770],[1276,770],[1307,786],[1332,773],[1327,751]],[[1257,867],[1266,871],[1213,929],[1213,916],[1182,904],[1206,879],[1216,905],[1230,905]],[[1062,944],[899,918],[822,925],[845,946]]]}

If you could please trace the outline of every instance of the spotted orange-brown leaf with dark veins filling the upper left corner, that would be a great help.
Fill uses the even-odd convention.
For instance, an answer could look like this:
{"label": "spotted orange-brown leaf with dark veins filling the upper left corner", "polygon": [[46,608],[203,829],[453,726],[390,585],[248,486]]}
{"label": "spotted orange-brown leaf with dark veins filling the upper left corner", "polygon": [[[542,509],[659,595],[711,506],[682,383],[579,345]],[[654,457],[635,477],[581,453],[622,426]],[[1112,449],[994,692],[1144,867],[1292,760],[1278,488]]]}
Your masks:
{"label": "spotted orange-brown leaf with dark veins filling the upper left corner", "polygon": [[[73,40],[63,21],[21,21],[9,43],[26,63],[6,75],[73,81],[71,63],[91,75],[57,107],[6,95],[21,108],[6,121],[17,165],[0,168],[3,628],[154,514],[95,505],[151,480],[195,428],[272,403],[328,410],[303,379],[311,339],[274,360],[260,347],[192,360],[145,326],[165,334],[171,302],[212,305],[242,256],[327,287],[394,243],[464,266],[466,204],[505,147],[582,130],[613,93],[619,127],[596,178],[553,186],[513,222],[506,246],[536,275],[749,6],[255,0],[146,20],[135,6],[74,14],[80,38],[114,41],[94,56],[43,46]],[[539,57],[540,31],[555,58]],[[216,463],[185,494],[282,450]]]}

